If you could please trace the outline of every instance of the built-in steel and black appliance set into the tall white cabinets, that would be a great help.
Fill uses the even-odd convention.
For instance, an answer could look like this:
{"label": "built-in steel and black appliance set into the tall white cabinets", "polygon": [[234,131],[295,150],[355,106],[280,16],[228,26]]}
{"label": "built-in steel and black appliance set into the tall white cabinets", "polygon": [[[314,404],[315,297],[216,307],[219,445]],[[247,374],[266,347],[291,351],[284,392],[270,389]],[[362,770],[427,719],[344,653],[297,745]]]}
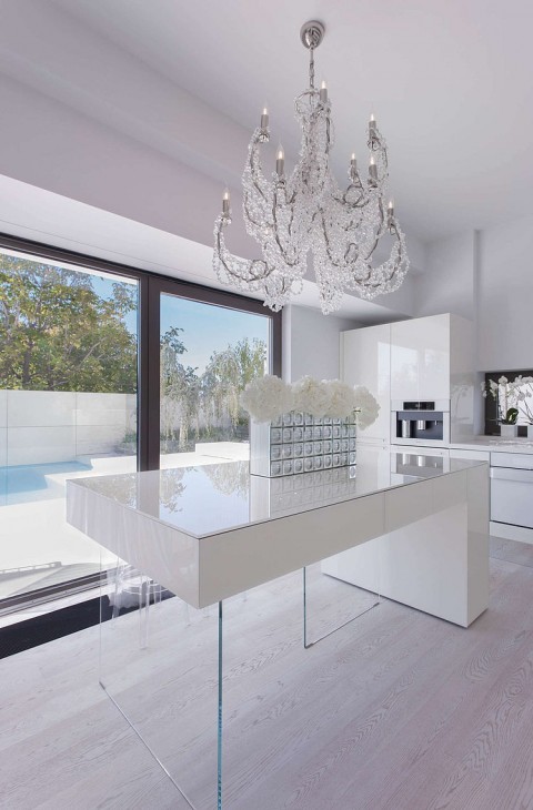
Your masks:
{"label": "built-in steel and black appliance set into the tall white cabinets", "polygon": [[450,444],[450,401],[393,401],[391,444],[447,447]]}

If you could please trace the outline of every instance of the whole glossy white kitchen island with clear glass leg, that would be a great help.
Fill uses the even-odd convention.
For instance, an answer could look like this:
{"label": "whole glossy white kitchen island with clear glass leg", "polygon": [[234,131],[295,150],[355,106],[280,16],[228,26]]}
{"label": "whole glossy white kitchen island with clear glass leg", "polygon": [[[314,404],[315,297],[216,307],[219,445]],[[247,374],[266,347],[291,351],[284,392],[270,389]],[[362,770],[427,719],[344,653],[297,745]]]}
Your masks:
{"label": "whole glossy white kitchen island with clear glass leg", "polygon": [[[191,807],[222,807],[225,600],[325,560],[322,570],[338,579],[464,627],[487,607],[489,475],[475,460],[365,448],[356,467],[272,479],[250,476],[243,462],[76,479],[68,520],[199,612],[218,605],[217,660],[197,667],[197,684],[217,681],[217,803],[185,786]],[[363,544],[374,546],[378,575],[369,554],[358,558]],[[150,671],[157,681],[155,665]],[[198,757],[188,768],[197,766]]]}

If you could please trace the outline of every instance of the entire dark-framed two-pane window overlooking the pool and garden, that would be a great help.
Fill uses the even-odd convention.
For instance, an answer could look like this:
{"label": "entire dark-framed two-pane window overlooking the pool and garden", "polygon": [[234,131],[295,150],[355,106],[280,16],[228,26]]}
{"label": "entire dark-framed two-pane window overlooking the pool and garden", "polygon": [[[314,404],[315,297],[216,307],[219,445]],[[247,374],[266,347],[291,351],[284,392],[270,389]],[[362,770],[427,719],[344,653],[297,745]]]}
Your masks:
{"label": "entire dark-framed two-pane window overlooking the pool and garden", "polygon": [[281,314],[8,236],[0,245],[4,612],[100,577],[100,546],[66,522],[68,478],[248,458],[239,395],[281,372]]}

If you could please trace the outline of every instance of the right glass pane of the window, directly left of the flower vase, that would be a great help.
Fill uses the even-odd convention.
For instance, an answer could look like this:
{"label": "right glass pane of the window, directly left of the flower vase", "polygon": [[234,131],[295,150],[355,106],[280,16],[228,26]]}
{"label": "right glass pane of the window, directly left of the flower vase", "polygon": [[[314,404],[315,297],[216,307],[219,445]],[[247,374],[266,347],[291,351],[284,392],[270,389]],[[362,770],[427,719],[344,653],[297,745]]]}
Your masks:
{"label": "right glass pane of the window, directly left of the flower vase", "polygon": [[161,466],[249,456],[247,383],[271,367],[270,317],[161,294]]}

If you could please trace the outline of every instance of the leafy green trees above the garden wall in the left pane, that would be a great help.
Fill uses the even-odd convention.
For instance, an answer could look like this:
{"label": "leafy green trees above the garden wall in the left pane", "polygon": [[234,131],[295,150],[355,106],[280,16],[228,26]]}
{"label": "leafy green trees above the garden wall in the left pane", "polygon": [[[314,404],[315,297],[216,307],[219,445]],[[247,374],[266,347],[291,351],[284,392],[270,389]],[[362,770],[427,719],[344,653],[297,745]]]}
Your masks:
{"label": "leafy green trees above the garden wall in the left pane", "polygon": [[101,297],[89,274],[0,255],[0,388],[133,393],[135,306],[131,284]]}

